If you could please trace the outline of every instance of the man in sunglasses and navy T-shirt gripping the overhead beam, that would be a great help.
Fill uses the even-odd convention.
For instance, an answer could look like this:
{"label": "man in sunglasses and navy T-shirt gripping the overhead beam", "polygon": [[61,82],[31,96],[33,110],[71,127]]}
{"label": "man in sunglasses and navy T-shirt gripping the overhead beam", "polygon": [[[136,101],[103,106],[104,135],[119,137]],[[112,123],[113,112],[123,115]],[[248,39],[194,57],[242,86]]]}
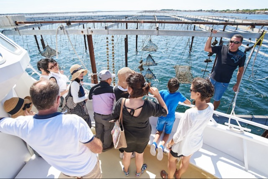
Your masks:
{"label": "man in sunglasses and navy T-shirt gripping the overhead beam", "polygon": [[[217,31],[213,30],[213,33],[217,33]],[[229,82],[232,78],[233,72],[234,70],[236,70],[237,66],[239,66],[236,77],[237,81],[236,84],[233,86],[233,91],[236,92],[238,90],[238,85],[241,81],[242,74],[244,71],[246,54],[238,49],[243,41],[243,36],[241,36],[240,34],[233,35],[228,45],[211,47],[211,39],[212,37],[208,38],[205,44],[205,51],[216,53],[218,56],[214,71],[209,76],[210,81],[215,88],[213,104],[214,110],[216,110],[220,105],[222,95],[227,89]],[[209,101],[210,99],[207,102]]]}

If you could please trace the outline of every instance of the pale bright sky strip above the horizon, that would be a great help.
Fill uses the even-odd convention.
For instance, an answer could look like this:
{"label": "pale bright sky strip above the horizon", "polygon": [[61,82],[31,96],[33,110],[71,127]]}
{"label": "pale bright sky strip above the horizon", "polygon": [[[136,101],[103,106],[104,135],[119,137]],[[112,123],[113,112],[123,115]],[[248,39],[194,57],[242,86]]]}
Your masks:
{"label": "pale bright sky strip above the horizon", "polygon": [[0,14],[161,9],[242,10],[264,8],[268,8],[267,0],[1,0]]}

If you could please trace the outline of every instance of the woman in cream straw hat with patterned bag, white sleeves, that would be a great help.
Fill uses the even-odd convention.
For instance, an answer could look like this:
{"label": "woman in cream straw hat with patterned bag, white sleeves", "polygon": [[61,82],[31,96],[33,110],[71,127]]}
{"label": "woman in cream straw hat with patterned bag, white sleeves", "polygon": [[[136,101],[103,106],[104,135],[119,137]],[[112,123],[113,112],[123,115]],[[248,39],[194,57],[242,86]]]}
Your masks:
{"label": "woman in cream straw hat with patterned bag, white sleeves", "polygon": [[87,70],[82,69],[78,64],[74,64],[70,68],[72,75],[71,84],[68,94],[63,101],[63,111],[67,110],[65,114],[76,114],[82,117],[91,127],[91,121],[88,114],[88,109],[85,105],[88,99],[89,91],[82,87],[81,81],[87,74]]}

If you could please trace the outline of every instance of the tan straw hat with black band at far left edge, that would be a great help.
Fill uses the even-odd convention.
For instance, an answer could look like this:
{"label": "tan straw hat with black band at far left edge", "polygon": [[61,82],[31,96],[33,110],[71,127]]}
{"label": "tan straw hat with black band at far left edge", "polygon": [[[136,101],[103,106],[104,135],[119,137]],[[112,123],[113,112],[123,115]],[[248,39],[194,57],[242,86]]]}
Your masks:
{"label": "tan straw hat with black band at far left edge", "polygon": [[24,99],[13,97],[4,102],[4,110],[11,114],[11,118],[16,118],[23,115],[24,111],[30,112],[32,110],[32,99],[26,96]]}

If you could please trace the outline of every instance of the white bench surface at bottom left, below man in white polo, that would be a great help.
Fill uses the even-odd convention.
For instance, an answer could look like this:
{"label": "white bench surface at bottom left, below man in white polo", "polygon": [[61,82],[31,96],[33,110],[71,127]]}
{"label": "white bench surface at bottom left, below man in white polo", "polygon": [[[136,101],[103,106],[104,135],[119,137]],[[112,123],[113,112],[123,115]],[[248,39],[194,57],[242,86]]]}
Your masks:
{"label": "white bench surface at bottom left, below man in white polo", "polygon": [[15,178],[58,178],[60,171],[49,165],[42,157],[32,155]]}

